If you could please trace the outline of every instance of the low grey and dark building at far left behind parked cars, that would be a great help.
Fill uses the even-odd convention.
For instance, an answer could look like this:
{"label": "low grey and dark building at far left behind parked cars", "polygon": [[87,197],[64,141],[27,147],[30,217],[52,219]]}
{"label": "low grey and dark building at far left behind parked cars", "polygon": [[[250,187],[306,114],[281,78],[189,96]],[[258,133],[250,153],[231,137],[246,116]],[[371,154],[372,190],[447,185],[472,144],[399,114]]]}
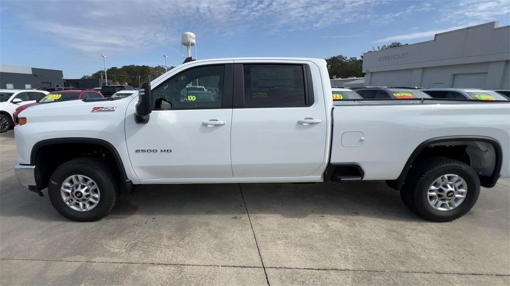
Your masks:
{"label": "low grey and dark building at far left behind parked cars", "polygon": [[0,65],[0,89],[38,89],[64,87],[61,70]]}

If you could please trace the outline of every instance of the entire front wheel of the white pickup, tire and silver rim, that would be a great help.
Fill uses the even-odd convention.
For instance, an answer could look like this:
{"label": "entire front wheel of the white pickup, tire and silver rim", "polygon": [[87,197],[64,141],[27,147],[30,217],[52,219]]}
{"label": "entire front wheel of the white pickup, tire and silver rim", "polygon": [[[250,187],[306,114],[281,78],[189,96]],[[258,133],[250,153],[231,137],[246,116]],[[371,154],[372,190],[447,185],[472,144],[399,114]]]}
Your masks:
{"label": "entire front wheel of the white pickup, tire and silver rim", "polygon": [[109,167],[95,158],[77,158],[60,165],[48,182],[55,209],[76,221],[107,216],[117,201],[117,184]]}

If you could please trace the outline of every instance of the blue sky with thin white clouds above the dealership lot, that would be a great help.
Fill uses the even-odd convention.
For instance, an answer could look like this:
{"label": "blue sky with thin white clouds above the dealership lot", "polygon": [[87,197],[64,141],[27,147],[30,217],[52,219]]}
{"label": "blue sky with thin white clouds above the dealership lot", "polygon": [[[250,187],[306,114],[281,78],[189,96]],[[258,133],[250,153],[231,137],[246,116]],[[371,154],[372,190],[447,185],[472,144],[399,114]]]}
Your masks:
{"label": "blue sky with thin white clouds above the dealership lot", "polygon": [[65,78],[103,69],[101,55],[107,67],[164,65],[163,55],[177,66],[183,32],[198,59],[359,57],[491,21],[509,24],[510,0],[0,0],[0,63]]}

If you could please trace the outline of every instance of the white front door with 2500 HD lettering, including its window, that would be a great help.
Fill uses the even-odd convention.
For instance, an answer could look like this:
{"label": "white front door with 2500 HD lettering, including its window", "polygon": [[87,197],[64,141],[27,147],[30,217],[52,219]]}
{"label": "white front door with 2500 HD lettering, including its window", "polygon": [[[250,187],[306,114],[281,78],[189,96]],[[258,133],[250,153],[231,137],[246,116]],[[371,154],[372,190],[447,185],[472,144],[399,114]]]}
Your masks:
{"label": "white front door with 2500 HD lettering, including its window", "polygon": [[225,81],[231,69],[211,65],[176,74],[153,87],[148,123],[126,117],[127,148],[140,180],[233,177],[232,80]]}

